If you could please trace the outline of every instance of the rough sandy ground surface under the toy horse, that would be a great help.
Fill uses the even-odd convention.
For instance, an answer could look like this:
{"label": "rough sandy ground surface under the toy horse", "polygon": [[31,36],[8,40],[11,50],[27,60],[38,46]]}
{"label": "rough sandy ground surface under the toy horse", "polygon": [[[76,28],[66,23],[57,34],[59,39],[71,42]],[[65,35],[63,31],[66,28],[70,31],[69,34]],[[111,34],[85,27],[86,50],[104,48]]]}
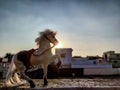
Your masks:
{"label": "rough sandy ground surface under the toy horse", "polygon": [[[43,87],[42,79],[33,79],[36,87]],[[74,78],[74,79],[48,79],[48,86],[45,88],[61,87],[120,87],[120,78]],[[4,80],[0,80],[0,87],[3,87]],[[29,84],[19,86],[29,88]]]}

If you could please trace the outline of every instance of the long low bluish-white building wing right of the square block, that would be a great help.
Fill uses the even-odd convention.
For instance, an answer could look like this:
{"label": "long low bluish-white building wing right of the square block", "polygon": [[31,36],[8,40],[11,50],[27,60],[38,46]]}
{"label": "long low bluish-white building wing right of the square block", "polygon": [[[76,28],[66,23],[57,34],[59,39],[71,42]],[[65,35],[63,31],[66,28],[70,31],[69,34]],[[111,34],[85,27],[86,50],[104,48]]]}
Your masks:
{"label": "long low bluish-white building wing right of the square block", "polygon": [[101,59],[73,58],[71,68],[112,68],[112,65]]}

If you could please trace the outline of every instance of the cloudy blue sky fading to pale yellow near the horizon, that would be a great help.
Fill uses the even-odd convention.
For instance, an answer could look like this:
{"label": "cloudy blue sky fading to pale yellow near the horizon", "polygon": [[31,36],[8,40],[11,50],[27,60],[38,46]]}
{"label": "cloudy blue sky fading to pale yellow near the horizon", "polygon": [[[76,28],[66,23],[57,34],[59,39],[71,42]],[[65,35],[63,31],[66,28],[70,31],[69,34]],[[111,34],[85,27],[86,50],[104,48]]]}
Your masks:
{"label": "cloudy blue sky fading to pale yellow near the horizon", "polygon": [[120,1],[0,0],[0,56],[37,48],[46,28],[73,56],[120,53]]}

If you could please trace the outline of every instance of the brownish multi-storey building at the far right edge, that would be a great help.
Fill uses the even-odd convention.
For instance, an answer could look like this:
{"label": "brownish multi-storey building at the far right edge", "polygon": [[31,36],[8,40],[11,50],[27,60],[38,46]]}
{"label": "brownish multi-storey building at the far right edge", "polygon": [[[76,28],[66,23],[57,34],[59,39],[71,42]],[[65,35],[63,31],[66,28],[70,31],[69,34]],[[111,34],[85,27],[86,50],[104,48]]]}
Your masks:
{"label": "brownish multi-storey building at the far right edge", "polygon": [[112,63],[113,68],[120,68],[120,53],[115,53],[115,51],[107,51],[103,53],[103,58]]}

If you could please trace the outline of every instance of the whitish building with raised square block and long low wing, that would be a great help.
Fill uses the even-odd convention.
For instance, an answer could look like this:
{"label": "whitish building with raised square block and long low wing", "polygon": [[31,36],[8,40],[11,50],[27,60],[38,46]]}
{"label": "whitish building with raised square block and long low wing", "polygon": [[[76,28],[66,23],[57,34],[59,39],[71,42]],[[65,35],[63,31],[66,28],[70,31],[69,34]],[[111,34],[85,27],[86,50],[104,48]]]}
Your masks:
{"label": "whitish building with raised square block and long low wing", "polygon": [[99,56],[72,57],[72,48],[57,48],[56,54],[62,58],[61,68],[112,68]]}

